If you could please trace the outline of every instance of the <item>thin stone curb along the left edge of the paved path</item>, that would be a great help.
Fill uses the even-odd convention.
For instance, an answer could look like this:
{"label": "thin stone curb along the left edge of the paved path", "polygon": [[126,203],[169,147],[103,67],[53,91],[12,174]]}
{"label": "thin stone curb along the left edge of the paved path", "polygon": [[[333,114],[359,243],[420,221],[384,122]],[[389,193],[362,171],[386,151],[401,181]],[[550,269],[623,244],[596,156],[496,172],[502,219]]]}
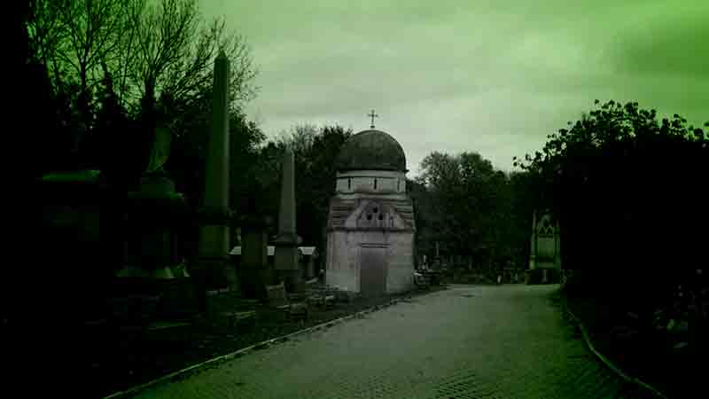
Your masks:
{"label": "thin stone curb along the left edge of the paved path", "polygon": [[274,344],[283,343],[283,342],[290,340],[296,336],[307,334],[308,332],[315,332],[315,331],[319,331],[319,330],[328,329],[333,325],[338,325],[342,322],[345,322],[345,321],[353,319],[353,318],[362,317],[363,315],[366,315],[367,313],[372,313],[372,312],[375,312],[380,309],[388,308],[388,307],[392,306],[393,304],[396,304],[400,301],[409,301],[413,297],[414,297],[413,295],[407,295],[405,297],[396,298],[391,301],[387,301],[385,303],[373,306],[369,309],[360,310],[360,311],[353,313],[351,315],[348,315],[348,316],[339,317],[334,320],[331,320],[331,321],[328,321],[325,323],[321,323],[319,325],[314,325],[312,327],[308,327],[308,328],[305,328],[303,330],[299,330],[296,332],[291,332],[290,334],[282,335],[280,337],[272,338],[270,340],[262,340],[261,342],[255,343],[250,347],[238,349],[238,350],[231,352],[230,354],[227,354],[227,355],[214,357],[212,359],[207,360],[206,362],[191,365],[190,367],[184,368],[182,370],[178,370],[177,372],[171,372],[168,375],[162,376],[158,379],[153,379],[152,381],[148,381],[148,382],[138,385],[136,387],[131,387],[127,390],[119,391],[119,392],[116,392],[112,395],[105,396],[104,399],[119,399],[119,398],[124,399],[124,398],[134,397],[149,387],[155,387],[160,384],[164,384],[166,382],[173,382],[178,379],[184,379],[184,378],[188,377],[189,375],[200,372],[208,367],[214,367],[218,364],[228,362],[231,359],[236,359],[236,358],[245,356],[245,355],[253,352],[254,350],[269,348],[270,346],[272,346]]}

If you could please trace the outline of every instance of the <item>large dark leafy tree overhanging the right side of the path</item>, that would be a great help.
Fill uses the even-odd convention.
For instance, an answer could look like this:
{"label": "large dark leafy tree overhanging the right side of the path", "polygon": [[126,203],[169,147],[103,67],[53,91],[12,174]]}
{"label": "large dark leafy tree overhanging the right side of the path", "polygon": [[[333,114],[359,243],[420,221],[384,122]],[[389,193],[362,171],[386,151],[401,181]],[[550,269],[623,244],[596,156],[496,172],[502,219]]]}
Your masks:
{"label": "large dark leafy tree overhanging the right side of the path", "polygon": [[635,102],[596,106],[518,165],[533,176],[537,205],[561,223],[565,267],[647,310],[700,254],[689,232],[706,213],[690,204],[702,198],[709,139],[677,114],[658,121]]}

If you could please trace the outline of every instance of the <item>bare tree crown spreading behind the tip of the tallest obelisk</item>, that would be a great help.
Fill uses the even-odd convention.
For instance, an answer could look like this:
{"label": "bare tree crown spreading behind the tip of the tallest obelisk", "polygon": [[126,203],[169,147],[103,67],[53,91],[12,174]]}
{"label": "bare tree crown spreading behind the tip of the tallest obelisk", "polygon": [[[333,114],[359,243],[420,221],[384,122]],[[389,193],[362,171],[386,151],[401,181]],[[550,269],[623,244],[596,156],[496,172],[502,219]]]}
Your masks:
{"label": "bare tree crown spreading behind the tip of the tallest obelisk", "polygon": [[205,100],[219,51],[231,62],[232,106],[253,98],[256,72],[245,40],[227,32],[223,20],[203,24],[195,0],[160,0],[149,6],[133,0],[130,16],[137,53],[133,78],[149,104],[159,95],[183,109]]}

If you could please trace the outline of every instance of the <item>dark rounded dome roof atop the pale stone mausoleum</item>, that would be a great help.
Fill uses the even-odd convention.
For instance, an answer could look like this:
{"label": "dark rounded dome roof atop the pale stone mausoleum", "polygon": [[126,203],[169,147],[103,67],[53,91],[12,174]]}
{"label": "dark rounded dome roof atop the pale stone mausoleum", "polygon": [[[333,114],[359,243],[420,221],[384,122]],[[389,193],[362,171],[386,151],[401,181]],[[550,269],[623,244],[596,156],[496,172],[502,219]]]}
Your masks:
{"label": "dark rounded dome roof atop the pale stone mausoleum", "polygon": [[339,150],[335,168],[345,170],[406,171],[406,155],[396,139],[381,130],[363,130]]}

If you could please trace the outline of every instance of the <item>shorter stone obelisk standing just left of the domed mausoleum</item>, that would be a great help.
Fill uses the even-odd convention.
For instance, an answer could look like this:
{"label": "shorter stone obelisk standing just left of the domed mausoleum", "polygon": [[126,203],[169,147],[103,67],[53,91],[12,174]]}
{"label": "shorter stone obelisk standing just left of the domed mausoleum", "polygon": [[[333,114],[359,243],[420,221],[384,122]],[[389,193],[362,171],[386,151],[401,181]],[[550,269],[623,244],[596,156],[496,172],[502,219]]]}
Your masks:
{"label": "shorter stone obelisk standing just left of the domed mausoleum", "polygon": [[298,246],[300,237],[295,231],[295,176],[291,149],[286,149],[281,176],[281,206],[278,210],[275,269],[283,278],[285,289],[291,293],[305,289],[300,272]]}

